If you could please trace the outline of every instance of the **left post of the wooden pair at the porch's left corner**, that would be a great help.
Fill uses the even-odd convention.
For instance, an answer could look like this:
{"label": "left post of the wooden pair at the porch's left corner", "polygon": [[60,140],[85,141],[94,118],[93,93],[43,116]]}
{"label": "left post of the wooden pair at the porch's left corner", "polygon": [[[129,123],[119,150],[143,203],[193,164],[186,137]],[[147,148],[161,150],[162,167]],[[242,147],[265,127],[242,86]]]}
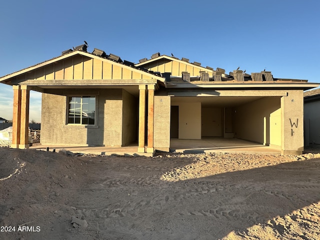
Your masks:
{"label": "left post of the wooden pair at the porch's left corner", "polygon": [[20,117],[21,117],[21,89],[13,85],[13,117],[12,117],[12,148],[18,148],[20,144]]}

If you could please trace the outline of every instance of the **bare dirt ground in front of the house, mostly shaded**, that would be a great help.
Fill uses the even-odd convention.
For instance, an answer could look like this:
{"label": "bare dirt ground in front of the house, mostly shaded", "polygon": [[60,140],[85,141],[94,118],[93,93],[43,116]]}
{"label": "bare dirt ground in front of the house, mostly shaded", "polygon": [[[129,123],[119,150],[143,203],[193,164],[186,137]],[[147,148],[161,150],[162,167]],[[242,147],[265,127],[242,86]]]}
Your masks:
{"label": "bare dirt ground in front of the house, mostly shaded", "polygon": [[0,239],[320,239],[313,152],[124,157],[1,147]]}

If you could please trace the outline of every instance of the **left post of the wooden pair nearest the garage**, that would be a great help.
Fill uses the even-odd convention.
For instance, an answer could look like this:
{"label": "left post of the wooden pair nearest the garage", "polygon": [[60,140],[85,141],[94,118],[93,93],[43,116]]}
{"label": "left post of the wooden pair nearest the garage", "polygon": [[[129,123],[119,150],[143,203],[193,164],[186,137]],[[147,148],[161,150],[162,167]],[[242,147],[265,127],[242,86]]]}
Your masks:
{"label": "left post of the wooden pair nearest the garage", "polygon": [[145,134],[145,85],[139,85],[138,152],[145,152],[144,134]]}

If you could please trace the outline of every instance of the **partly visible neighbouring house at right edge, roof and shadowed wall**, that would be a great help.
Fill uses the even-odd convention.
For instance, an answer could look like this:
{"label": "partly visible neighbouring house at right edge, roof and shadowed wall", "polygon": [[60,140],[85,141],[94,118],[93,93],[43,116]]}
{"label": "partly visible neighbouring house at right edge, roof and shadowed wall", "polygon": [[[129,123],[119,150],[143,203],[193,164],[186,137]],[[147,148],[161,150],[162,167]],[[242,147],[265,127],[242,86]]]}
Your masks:
{"label": "partly visible neighbouring house at right edge, roof and shadowed wall", "polygon": [[320,144],[320,88],[305,91],[304,145]]}

